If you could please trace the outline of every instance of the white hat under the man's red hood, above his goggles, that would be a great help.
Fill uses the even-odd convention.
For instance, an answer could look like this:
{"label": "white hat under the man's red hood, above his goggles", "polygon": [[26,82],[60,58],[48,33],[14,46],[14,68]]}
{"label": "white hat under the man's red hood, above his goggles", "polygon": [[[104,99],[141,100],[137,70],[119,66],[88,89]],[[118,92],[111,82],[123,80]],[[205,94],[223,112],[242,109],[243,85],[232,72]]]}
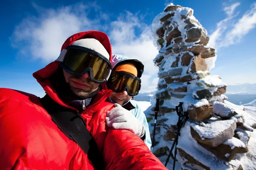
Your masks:
{"label": "white hat under the man's red hood, above his goggles", "polygon": [[[91,50],[94,50],[94,51],[98,52],[99,54],[102,54],[108,60],[110,58],[108,51],[104,48],[104,46],[98,40],[96,40],[94,38],[86,38],[86,39],[76,40],[72,43],[72,45],[90,48]],[[62,50],[61,54],[59,55],[58,59],[56,59],[56,60],[62,62],[65,57],[66,52],[67,52],[67,50],[65,50],[65,49]]]}

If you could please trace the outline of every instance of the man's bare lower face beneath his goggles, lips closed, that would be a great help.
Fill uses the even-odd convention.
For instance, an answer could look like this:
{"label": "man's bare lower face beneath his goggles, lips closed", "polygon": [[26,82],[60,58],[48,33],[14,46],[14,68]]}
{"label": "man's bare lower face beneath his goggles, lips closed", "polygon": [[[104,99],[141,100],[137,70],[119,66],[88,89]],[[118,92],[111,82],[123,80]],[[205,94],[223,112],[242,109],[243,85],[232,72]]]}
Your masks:
{"label": "man's bare lower face beneath his goggles, lips closed", "polygon": [[99,84],[91,81],[89,72],[81,76],[68,73],[63,69],[63,74],[71,91],[79,97],[88,97],[99,88]]}

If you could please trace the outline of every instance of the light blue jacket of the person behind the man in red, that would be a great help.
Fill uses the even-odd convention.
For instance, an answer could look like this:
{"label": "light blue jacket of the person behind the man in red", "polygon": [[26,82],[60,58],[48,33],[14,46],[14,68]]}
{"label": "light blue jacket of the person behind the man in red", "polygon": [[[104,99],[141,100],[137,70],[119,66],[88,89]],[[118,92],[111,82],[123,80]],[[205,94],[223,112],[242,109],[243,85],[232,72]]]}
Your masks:
{"label": "light blue jacket of the person behind the man in red", "polygon": [[[112,103],[115,103],[110,98],[108,98],[108,99]],[[126,102],[124,105],[122,105],[122,107],[125,108],[126,110],[130,111],[145,126],[146,137],[145,137],[144,142],[150,150],[152,143],[151,143],[151,138],[150,138],[150,133],[149,133],[149,128],[148,128],[148,122],[147,122],[145,114],[140,109],[140,106],[137,104],[136,101],[130,100],[130,101]]]}

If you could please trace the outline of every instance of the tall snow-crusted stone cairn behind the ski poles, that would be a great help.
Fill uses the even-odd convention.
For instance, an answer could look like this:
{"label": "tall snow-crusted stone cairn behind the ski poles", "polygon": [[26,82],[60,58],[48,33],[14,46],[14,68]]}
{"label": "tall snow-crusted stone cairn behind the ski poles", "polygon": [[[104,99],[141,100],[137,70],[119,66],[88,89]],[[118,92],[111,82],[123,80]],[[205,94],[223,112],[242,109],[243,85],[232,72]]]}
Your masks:
{"label": "tall snow-crusted stone cairn behind the ski poles", "polygon": [[[155,17],[152,30],[159,49],[154,59],[159,81],[147,110],[151,118],[156,98],[160,99],[153,153],[165,163],[177,132],[175,106],[183,102],[189,120],[180,132],[176,166],[180,163],[182,170],[241,170],[239,159],[248,151],[248,131],[253,131],[256,121],[250,120],[243,106],[226,100],[227,86],[219,76],[209,75],[216,55],[207,46],[207,31],[191,8],[172,3]],[[148,123],[152,131],[154,122]]]}

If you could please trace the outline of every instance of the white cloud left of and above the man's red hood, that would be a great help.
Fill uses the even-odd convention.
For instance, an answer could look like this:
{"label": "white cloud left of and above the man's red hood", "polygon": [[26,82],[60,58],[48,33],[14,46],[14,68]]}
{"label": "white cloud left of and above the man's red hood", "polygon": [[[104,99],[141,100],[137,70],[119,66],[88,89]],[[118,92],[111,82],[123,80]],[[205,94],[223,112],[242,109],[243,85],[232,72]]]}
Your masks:
{"label": "white cloud left of and above the man's red hood", "polygon": [[33,5],[39,17],[27,17],[16,26],[12,45],[25,56],[50,62],[60,53],[63,42],[82,30],[97,29],[99,20],[90,20],[83,4],[44,9]]}

